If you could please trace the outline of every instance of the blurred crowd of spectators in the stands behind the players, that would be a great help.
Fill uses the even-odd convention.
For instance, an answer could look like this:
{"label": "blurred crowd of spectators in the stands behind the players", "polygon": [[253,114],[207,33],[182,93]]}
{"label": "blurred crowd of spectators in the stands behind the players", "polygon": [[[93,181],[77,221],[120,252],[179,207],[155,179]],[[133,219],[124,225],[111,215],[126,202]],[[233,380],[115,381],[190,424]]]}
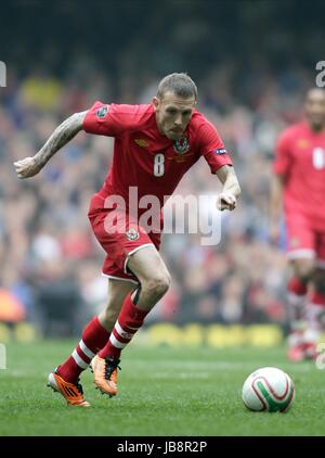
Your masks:
{"label": "blurred crowd of spectators in the stands behind the players", "polygon": [[[104,251],[87,212],[112,162],[113,139],[80,132],[28,180],[16,179],[13,162],[32,156],[60,123],[95,100],[150,103],[165,76],[123,76],[116,85],[87,59],[69,65],[69,76],[60,78],[43,69],[22,77],[9,68],[8,87],[0,88],[0,320],[25,316],[49,335],[78,332],[106,301]],[[284,225],[277,246],[268,239],[271,164],[278,132],[302,116],[312,76],[297,64],[275,72],[259,61],[244,72],[225,62],[196,80],[198,109],[231,153],[242,196],[235,212],[222,213],[218,245],[203,246],[200,234],[164,237],[172,284],[148,322],[285,326]],[[219,191],[200,160],[176,192]]]}

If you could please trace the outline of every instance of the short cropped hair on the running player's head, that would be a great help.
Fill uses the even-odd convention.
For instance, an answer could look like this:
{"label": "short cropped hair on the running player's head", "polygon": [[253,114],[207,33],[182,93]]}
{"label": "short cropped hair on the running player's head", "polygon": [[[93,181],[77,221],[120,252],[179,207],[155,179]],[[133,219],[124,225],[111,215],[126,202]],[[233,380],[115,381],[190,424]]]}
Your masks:
{"label": "short cropped hair on the running player's head", "polygon": [[157,90],[157,97],[162,99],[166,92],[173,92],[183,99],[194,97],[197,100],[197,87],[192,78],[185,73],[171,73],[161,79]]}

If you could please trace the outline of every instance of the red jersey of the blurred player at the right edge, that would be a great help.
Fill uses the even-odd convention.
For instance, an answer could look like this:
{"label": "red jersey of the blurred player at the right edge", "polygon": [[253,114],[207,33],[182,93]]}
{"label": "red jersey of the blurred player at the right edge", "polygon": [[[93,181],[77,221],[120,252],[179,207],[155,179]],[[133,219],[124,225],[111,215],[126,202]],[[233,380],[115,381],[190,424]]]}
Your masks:
{"label": "red jersey of the blurred player at the right edge", "polygon": [[277,141],[273,164],[285,176],[284,207],[301,213],[314,229],[325,229],[325,130],[314,132],[302,122],[284,130]]}

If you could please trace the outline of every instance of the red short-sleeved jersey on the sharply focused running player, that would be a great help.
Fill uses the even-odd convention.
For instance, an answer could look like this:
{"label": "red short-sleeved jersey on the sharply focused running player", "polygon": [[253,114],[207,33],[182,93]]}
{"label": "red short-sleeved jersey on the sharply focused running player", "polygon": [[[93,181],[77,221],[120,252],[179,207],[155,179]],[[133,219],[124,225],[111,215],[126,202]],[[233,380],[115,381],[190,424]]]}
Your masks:
{"label": "red short-sleeved jersey on the sharply focused running player", "polygon": [[138,187],[139,200],[156,195],[162,207],[164,198],[172,194],[182,176],[202,155],[211,173],[232,165],[216,128],[197,111],[178,141],[159,132],[152,104],[96,102],[84,117],[83,129],[115,137],[113,163],[103,188],[92,200],[92,209],[103,208],[105,198],[113,194],[123,196],[128,203],[129,187]]}

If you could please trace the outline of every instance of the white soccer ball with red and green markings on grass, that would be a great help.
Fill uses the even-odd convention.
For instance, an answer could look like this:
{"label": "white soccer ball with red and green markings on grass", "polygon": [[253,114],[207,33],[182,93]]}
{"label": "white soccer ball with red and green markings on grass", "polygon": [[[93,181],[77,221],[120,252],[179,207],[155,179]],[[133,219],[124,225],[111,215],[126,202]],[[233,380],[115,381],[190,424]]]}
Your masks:
{"label": "white soccer ball with red and green markings on grass", "polygon": [[284,412],[292,405],[295,385],[289,376],[275,367],[263,367],[245,381],[242,398],[253,411]]}

